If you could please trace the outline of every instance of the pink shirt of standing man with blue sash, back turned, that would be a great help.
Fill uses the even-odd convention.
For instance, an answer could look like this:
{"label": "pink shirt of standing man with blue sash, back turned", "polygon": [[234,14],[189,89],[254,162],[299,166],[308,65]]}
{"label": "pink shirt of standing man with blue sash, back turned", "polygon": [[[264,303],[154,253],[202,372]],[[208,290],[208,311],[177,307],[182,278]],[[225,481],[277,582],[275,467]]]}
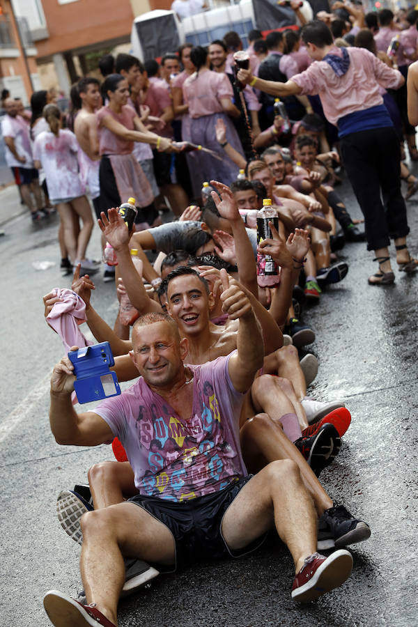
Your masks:
{"label": "pink shirt of standing man with blue sash, back turned", "polygon": [[[350,113],[382,104],[379,85],[397,89],[403,79],[401,72],[389,68],[369,50],[355,47],[346,50],[350,65],[343,76],[336,76],[326,61],[315,61],[307,70],[292,77],[302,89],[302,95],[319,95],[325,117],[332,124]],[[330,49],[330,54],[342,56],[336,46]]]}

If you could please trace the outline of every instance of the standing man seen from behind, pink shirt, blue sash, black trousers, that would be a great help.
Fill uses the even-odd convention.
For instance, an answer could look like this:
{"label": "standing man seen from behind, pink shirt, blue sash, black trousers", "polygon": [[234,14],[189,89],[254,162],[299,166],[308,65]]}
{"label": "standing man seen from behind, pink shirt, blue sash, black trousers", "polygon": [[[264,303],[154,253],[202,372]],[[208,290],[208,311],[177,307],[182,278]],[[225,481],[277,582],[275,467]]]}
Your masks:
{"label": "standing man seen from behind, pink shirt, blue sash, black trousers", "polygon": [[279,97],[319,94],[325,116],[339,128],[344,165],[365,217],[367,247],[375,251],[379,263],[369,283],[392,284],[389,236],[395,240],[399,269],[414,272],[418,266],[406,245],[409,227],[398,137],[379,93],[379,85],[392,89],[403,85],[403,76],[366,49],[334,47],[330,29],[318,20],[303,27],[302,40],[316,63],[290,81],[263,81],[249,70],[240,70],[238,79]]}

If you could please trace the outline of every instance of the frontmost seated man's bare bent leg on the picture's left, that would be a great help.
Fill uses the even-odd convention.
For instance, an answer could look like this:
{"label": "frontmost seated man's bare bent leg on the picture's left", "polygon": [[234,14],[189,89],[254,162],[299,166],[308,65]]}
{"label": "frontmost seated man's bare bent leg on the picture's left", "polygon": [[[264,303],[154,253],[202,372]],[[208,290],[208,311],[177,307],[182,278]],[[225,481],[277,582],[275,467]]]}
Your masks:
{"label": "frontmost seated man's bare bent leg on the picture's left", "polygon": [[81,524],[80,571],[87,603],[95,603],[116,625],[118,599],[125,583],[123,557],[173,564],[173,536],[162,522],[134,503],[88,512]]}

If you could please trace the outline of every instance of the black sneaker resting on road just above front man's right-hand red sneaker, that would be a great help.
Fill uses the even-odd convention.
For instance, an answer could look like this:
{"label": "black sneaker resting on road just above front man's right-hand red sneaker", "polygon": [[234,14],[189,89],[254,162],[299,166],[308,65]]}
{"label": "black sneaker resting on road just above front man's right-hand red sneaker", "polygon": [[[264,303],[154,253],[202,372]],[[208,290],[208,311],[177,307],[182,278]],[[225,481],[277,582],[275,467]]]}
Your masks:
{"label": "black sneaker resting on road just above front man's right-hand red sneaker", "polygon": [[326,509],[318,521],[318,550],[340,548],[370,538],[370,527],[358,520],[343,505]]}

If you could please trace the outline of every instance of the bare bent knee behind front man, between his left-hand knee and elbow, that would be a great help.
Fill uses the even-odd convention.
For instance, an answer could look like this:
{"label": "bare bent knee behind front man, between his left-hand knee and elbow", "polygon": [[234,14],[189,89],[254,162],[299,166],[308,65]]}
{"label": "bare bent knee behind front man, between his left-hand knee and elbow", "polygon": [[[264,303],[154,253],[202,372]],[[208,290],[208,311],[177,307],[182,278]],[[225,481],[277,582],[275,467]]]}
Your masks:
{"label": "bare bent knee behind front man, between his left-hand knee and elbow", "polygon": [[88,471],[88,483],[94,509],[122,503],[138,493],[134,485],[134,472],[129,462],[100,462]]}

